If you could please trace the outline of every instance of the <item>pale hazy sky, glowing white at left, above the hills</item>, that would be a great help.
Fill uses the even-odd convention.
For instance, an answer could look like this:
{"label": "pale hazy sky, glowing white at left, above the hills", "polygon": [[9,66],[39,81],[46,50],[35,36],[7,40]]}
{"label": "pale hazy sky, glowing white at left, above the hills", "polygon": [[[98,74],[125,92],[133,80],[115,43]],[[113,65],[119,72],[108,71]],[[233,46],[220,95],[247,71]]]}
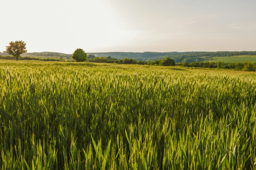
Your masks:
{"label": "pale hazy sky, glowing white at left, above the hills", "polygon": [[1,0],[0,51],[256,50],[256,0]]}

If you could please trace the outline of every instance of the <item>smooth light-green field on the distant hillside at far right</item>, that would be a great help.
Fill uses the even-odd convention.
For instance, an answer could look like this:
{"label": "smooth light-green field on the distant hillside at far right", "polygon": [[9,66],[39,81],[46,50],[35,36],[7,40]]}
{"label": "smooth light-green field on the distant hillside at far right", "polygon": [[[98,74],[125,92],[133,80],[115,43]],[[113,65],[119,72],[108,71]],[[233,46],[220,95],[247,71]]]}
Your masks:
{"label": "smooth light-green field on the distant hillside at far right", "polygon": [[213,57],[214,60],[210,62],[225,62],[225,63],[243,63],[243,62],[256,62],[256,56],[232,56],[232,57]]}

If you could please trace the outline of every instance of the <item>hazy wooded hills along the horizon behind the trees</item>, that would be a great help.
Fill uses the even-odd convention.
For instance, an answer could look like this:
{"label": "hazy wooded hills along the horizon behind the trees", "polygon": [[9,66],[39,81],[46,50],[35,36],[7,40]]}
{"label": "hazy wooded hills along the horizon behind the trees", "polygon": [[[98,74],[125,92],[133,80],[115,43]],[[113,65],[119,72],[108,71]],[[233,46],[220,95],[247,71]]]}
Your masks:
{"label": "hazy wooded hills along the horizon behind the trees", "polygon": [[[166,57],[174,59],[176,63],[184,62],[201,62],[201,61],[214,61],[216,57],[232,57],[232,56],[256,56],[256,51],[217,51],[217,52],[205,52],[205,51],[192,51],[192,52],[90,52],[96,57],[108,57],[117,59],[135,59],[137,61],[155,61],[162,60]],[[1,54],[0,55],[4,55]],[[72,54],[65,54],[60,52],[32,52],[24,53],[22,56],[52,56],[71,59]],[[230,58],[231,59],[231,58]],[[222,61],[221,59],[218,59]],[[245,61],[243,58],[241,61]],[[246,62],[246,61],[245,61]]]}

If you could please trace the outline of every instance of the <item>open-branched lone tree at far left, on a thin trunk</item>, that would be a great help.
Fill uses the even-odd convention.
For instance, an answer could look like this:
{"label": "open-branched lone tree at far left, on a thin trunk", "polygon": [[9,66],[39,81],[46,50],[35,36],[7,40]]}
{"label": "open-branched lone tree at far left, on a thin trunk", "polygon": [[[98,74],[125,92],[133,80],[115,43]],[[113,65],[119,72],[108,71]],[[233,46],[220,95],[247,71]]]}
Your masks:
{"label": "open-branched lone tree at far left, on a thin trunk", "polygon": [[15,41],[10,42],[9,46],[6,46],[6,52],[14,57],[16,57],[16,60],[18,61],[18,58],[21,54],[27,52],[26,50],[26,43],[24,41]]}

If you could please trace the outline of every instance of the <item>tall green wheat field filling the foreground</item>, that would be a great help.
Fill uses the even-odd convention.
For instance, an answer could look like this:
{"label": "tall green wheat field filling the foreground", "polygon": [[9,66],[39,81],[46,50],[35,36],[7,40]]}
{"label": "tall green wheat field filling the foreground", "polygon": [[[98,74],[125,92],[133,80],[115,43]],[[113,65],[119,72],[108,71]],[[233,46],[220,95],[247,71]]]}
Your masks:
{"label": "tall green wheat field filling the foreground", "polygon": [[256,74],[0,60],[0,169],[255,169]]}

